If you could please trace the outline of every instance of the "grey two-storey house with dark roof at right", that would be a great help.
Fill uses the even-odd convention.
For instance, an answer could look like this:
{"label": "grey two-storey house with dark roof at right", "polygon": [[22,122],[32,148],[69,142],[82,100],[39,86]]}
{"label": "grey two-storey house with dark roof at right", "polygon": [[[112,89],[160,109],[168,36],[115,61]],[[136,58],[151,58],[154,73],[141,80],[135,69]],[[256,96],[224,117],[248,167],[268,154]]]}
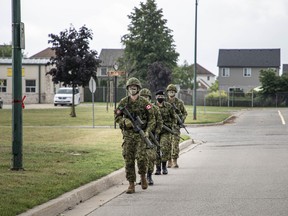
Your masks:
{"label": "grey two-storey house with dark roof at right", "polygon": [[273,68],[279,76],[280,49],[220,49],[217,66],[219,90],[249,92],[261,85],[261,70]]}

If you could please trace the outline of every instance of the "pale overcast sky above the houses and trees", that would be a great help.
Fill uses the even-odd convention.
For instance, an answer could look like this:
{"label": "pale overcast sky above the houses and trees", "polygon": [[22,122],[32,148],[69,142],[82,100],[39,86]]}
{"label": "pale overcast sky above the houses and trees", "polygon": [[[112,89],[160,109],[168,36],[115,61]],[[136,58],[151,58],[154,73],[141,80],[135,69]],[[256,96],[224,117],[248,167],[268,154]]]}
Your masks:
{"label": "pale overcast sky above the houses and trees", "polygon": [[[146,1],[146,0],[142,0]],[[10,43],[11,0],[0,2],[0,44]],[[49,47],[48,34],[59,34],[70,24],[86,25],[93,32],[90,48],[123,48],[122,35],[130,23],[127,15],[140,0],[22,0],[25,24],[24,53],[28,57]],[[173,33],[178,64],[194,63],[195,0],[156,0]],[[198,0],[197,63],[218,75],[219,49],[280,48],[288,64],[287,0]]]}

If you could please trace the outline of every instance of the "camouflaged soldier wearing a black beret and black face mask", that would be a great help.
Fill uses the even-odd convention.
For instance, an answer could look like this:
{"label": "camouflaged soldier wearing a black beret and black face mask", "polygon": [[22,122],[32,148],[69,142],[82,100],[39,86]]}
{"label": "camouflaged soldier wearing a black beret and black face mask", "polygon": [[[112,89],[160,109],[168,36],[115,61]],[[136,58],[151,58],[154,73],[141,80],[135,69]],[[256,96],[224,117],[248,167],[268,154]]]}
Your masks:
{"label": "camouflaged soldier wearing a black beret and black face mask", "polygon": [[[160,109],[163,125],[173,130],[176,125],[175,111],[172,105],[165,101],[164,90],[159,90],[156,92],[156,105]],[[156,162],[155,175],[161,175],[161,165],[162,173],[164,175],[168,174],[167,161],[171,158],[171,143],[172,136],[170,132],[162,128],[160,133],[160,149],[162,152],[162,157],[161,160],[157,160]]]}

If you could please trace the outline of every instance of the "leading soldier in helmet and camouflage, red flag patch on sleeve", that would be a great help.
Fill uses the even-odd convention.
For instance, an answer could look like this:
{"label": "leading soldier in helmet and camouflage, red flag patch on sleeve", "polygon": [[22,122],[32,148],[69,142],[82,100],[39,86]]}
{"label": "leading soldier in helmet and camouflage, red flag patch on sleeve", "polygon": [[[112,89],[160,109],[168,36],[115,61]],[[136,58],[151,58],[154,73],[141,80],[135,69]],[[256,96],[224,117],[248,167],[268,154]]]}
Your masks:
{"label": "leading soldier in helmet and camouflage, red flag patch on sleeve", "polygon": [[[140,81],[132,77],[126,83],[126,89],[129,95],[122,98],[115,110],[115,121],[122,130],[124,142],[122,144],[122,154],[125,161],[126,179],[129,181],[129,187],[126,193],[135,192],[135,160],[137,160],[138,173],[141,176],[142,189],[148,188],[146,180],[147,172],[147,152],[146,143],[141,138],[139,131],[133,130],[133,123],[128,116],[122,112],[123,107],[131,113],[133,118],[137,116],[144,122],[142,130],[145,137],[149,137],[149,132],[155,127],[155,117],[153,115],[152,105],[145,98],[139,96],[141,89]],[[135,120],[135,119],[134,119]]]}

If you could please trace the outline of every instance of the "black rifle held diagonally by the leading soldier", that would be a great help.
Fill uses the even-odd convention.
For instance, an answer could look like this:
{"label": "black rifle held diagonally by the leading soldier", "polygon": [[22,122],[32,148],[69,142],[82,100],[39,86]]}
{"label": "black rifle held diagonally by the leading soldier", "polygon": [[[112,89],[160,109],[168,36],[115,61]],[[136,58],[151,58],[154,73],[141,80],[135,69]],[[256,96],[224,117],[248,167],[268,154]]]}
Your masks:
{"label": "black rifle held diagonally by the leading soldier", "polygon": [[129,110],[125,107],[119,108],[132,122],[133,129],[136,133],[139,133],[141,138],[144,140],[144,142],[147,144],[148,148],[153,148],[153,143],[148,139],[148,137],[145,136],[144,131],[141,128],[141,125],[143,125],[143,122],[139,118],[139,116],[136,117],[136,119],[133,118]]}

